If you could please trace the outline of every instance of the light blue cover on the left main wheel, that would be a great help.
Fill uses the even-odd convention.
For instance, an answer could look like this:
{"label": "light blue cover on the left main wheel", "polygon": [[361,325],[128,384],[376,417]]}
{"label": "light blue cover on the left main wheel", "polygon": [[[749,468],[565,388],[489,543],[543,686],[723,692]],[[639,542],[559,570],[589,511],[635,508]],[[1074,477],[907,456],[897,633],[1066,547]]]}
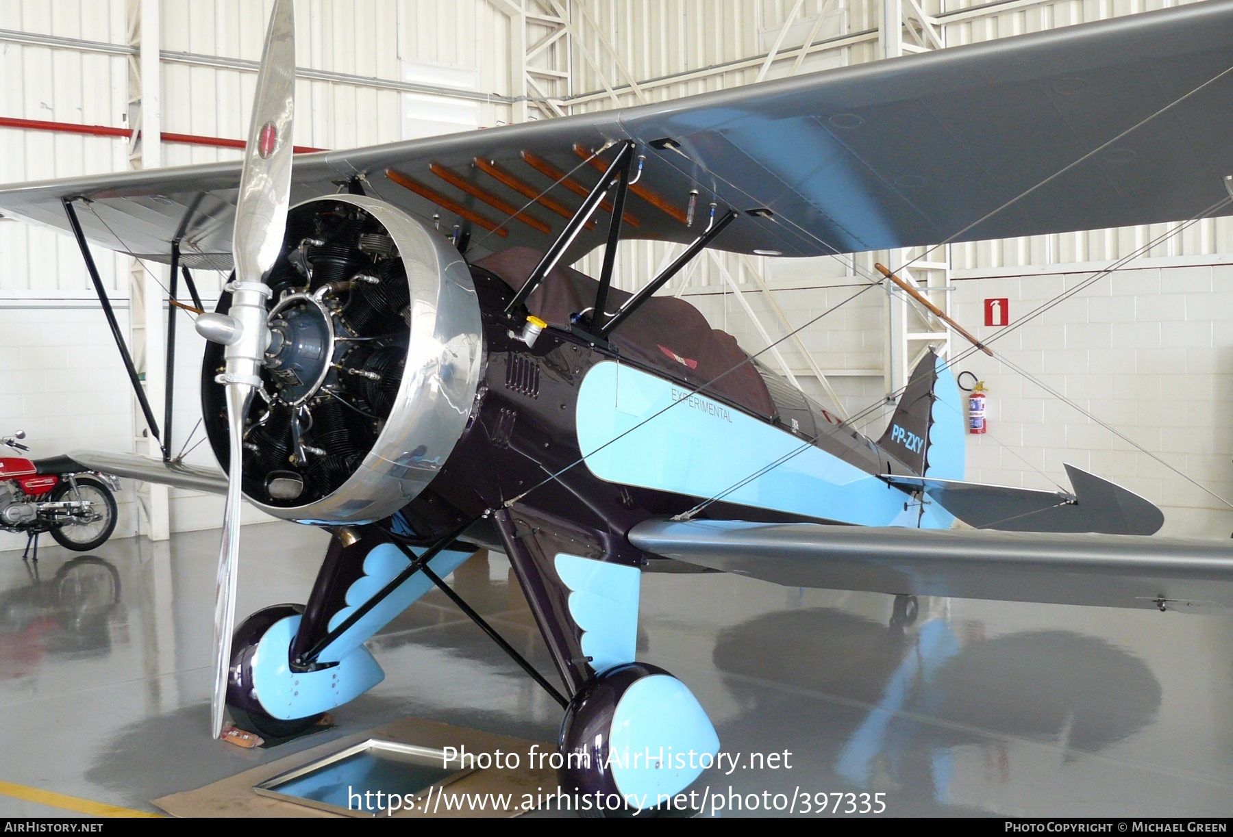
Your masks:
{"label": "light blue cover on the left main wheel", "polygon": [[355,700],[385,679],[381,666],[363,646],[342,657],[337,666],[314,672],[291,671],[291,640],[298,627],[300,616],[274,623],[253,655],[253,688],[271,717],[289,721],[324,712]]}

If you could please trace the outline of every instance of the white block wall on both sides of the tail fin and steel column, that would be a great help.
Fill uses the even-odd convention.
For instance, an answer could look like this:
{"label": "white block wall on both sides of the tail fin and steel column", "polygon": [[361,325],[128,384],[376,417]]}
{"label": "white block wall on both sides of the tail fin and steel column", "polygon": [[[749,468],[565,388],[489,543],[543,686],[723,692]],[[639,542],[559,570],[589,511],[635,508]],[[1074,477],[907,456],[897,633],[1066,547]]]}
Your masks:
{"label": "white block wall on both sides of the tail fin and steel column", "polygon": [[[862,287],[863,280],[838,275],[835,264],[834,259],[768,261],[767,279],[793,328]],[[983,325],[985,298],[1009,298],[1014,323],[1106,265],[954,271],[952,311],[979,338],[994,338],[1001,329]],[[1233,256],[1141,259],[1133,265],[995,339],[993,346],[1233,502]],[[764,349],[766,341],[720,281],[715,271],[700,269],[684,298],[747,351]],[[757,286],[741,287],[772,339],[785,335],[789,329]],[[880,371],[852,372],[882,369],[885,317],[884,295],[870,291],[800,333],[819,366],[847,372],[830,382],[850,412],[868,412],[858,424],[873,436],[880,435],[890,412],[878,407],[883,378]],[[956,351],[964,348],[959,338],[954,345]],[[784,341],[779,349],[805,390],[829,403],[795,344]],[[778,371],[769,354],[760,359]],[[968,436],[969,480],[1069,488],[1063,462],[1070,462],[1159,504],[1165,533],[1208,537],[1233,533],[1233,508],[1009,366],[977,353],[957,370],[970,370],[990,387],[990,433]]]}

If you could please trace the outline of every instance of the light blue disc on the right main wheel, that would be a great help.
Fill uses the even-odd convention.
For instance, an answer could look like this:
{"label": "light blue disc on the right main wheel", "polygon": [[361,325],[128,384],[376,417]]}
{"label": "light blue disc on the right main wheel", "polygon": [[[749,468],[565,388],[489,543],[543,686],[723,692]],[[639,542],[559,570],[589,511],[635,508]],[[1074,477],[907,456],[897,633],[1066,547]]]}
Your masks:
{"label": "light blue disc on the right main wheel", "polygon": [[718,752],[719,736],[707,710],[674,677],[644,677],[616,704],[608,759],[616,789],[639,807],[653,807],[663,794],[688,788]]}

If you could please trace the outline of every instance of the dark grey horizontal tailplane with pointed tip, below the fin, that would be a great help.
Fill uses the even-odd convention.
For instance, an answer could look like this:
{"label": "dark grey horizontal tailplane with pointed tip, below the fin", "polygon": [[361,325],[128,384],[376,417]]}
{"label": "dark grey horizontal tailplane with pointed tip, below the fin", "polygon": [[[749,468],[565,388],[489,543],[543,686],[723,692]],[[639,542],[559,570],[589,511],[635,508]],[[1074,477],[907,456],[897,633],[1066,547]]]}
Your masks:
{"label": "dark grey horizontal tailplane with pointed tip, below the fin", "polygon": [[977,482],[885,475],[903,491],[921,491],[975,529],[1001,531],[1101,533],[1152,535],[1164,513],[1134,492],[1067,465],[1074,494]]}

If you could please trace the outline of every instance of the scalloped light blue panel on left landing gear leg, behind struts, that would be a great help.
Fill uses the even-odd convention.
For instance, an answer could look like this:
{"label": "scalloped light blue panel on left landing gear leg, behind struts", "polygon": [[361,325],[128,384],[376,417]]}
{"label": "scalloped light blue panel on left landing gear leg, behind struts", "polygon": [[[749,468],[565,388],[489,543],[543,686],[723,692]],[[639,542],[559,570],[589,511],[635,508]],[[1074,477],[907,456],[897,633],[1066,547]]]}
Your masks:
{"label": "scalloped light blue panel on left landing gear leg, behind struts", "polygon": [[[423,550],[419,551],[420,553]],[[444,578],[459,568],[459,566],[471,557],[471,552],[459,552],[445,550],[428,562],[438,576]],[[393,544],[381,544],[376,546],[364,558],[364,574],[358,578],[346,590],[346,606],[342,608],[329,619],[329,630],[334,630],[343,624],[351,613],[361,604],[376,595],[381,588],[393,581],[411,563],[411,560],[402,553]],[[360,647],[377,631],[390,624],[390,621],[409,608],[419,597],[433,587],[433,582],[422,572],[404,581],[393,593],[385,598],[377,606],[364,615],[360,621],[351,625],[337,640],[330,642],[322,651],[318,659],[321,662],[337,662]]]}

